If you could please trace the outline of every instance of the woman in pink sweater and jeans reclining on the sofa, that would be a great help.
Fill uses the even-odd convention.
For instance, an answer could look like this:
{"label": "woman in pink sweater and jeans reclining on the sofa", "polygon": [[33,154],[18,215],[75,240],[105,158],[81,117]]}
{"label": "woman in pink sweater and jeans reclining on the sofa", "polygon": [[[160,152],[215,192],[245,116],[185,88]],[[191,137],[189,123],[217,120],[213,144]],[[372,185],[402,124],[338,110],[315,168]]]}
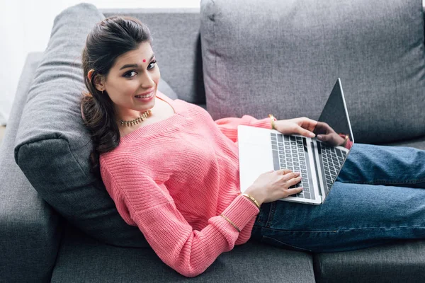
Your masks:
{"label": "woman in pink sweater and jeans reclining on the sofa", "polygon": [[203,108],[157,91],[151,40],[135,18],[98,23],[83,52],[89,94],[81,110],[94,172],[167,265],[194,277],[249,238],[314,252],[424,238],[425,190],[413,187],[425,187],[425,151],[356,144],[319,206],[276,202],[302,190],[294,187],[300,173],[290,170],[263,173],[240,194],[237,125],[314,137],[317,121],[213,121]]}

